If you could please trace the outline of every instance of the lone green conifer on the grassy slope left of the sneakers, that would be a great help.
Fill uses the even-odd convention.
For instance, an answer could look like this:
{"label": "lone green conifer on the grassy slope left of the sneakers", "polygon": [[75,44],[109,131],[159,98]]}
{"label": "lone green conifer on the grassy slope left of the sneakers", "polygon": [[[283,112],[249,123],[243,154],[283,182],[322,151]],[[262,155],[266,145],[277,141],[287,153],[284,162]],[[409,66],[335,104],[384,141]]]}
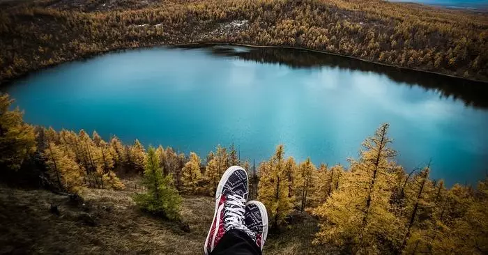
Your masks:
{"label": "lone green conifer on the grassy slope left of the sneakers", "polygon": [[171,176],[162,175],[153,147],[148,149],[143,183],[148,191],[135,196],[135,202],[140,208],[168,219],[180,218],[181,196],[171,186]]}

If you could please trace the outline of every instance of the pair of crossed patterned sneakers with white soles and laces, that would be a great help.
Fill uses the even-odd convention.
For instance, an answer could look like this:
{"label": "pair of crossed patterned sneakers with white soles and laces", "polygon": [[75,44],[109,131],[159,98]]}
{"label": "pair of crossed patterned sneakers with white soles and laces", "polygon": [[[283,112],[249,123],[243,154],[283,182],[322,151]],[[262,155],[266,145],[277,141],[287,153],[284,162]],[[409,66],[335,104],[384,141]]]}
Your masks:
{"label": "pair of crossed patterned sneakers with white soles and laces", "polygon": [[215,192],[215,212],[204,246],[206,255],[231,229],[244,231],[263,250],[268,235],[268,214],[259,201],[246,203],[248,183],[247,172],[242,167],[229,167],[224,172]]}

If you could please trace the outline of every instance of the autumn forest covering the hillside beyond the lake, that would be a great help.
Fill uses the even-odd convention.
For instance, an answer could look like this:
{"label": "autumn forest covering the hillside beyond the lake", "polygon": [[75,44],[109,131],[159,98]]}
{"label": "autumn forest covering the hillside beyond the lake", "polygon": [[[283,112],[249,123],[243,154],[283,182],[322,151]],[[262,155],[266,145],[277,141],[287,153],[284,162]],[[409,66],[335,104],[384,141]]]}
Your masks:
{"label": "autumn forest covering the hillside beyond the lake", "polygon": [[299,47],[488,81],[488,16],[381,0],[0,2],[0,82],[118,49]]}

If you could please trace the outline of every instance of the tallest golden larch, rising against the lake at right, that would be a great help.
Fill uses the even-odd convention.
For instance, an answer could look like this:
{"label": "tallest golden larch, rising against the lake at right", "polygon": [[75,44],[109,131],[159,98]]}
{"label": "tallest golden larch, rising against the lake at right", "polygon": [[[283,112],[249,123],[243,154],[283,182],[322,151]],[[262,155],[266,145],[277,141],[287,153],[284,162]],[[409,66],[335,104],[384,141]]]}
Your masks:
{"label": "tallest golden larch, rising against the lake at right", "polygon": [[388,124],[383,124],[364,141],[359,160],[351,160],[338,189],[314,210],[321,219],[314,242],[332,243],[353,253],[398,249],[401,224],[389,204],[396,152],[388,146],[387,132]]}

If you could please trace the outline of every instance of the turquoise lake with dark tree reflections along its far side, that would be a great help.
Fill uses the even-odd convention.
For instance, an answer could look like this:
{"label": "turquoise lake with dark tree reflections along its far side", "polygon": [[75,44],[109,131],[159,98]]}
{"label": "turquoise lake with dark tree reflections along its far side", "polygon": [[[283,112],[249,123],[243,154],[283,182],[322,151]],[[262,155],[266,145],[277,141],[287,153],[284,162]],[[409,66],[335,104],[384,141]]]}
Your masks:
{"label": "turquoise lake with dark tree reflections along its far side", "polygon": [[475,184],[487,173],[488,84],[290,49],[155,47],[33,73],[3,88],[24,119],[203,158],[217,144],[264,160],[347,164],[390,123],[407,171]]}

